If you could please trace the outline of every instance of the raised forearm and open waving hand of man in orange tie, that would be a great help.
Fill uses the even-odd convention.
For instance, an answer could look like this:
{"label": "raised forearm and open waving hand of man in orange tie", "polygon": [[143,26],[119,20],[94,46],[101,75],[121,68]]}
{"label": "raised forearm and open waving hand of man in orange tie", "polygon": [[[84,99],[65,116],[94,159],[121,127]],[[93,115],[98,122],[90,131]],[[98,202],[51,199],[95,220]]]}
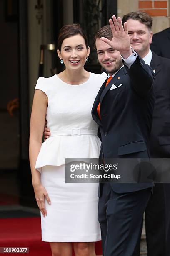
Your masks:
{"label": "raised forearm and open waving hand of man in orange tie", "polygon": [[[125,64],[125,68],[130,76],[133,89],[138,93],[138,95],[148,95],[148,92],[150,92],[153,87],[155,75],[152,69],[145,64],[143,59],[141,59],[137,53],[133,53],[133,50],[130,47],[127,23],[124,23],[123,28],[120,17],[116,19],[115,15],[113,15],[112,19],[109,20],[113,35],[112,40],[104,37],[100,39],[109,44],[113,49],[120,51],[120,54],[124,59],[123,62]],[[130,65],[126,64],[127,59],[128,62],[129,59],[132,59]]]}

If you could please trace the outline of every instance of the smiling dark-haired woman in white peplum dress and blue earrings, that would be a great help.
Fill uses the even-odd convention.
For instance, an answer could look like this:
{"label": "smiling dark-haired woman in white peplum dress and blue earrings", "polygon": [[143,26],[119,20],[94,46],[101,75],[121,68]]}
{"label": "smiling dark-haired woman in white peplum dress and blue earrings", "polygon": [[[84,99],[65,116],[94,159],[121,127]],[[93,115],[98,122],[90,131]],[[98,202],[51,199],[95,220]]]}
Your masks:
{"label": "smiling dark-haired woman in white peplum dress and blue earrings", "polygon": [[[40,77],[30,121],[30,166],[42,240],[52,256],[95,256],[101,239],[97,220],[98,184],[65,183],[65,158],[98,158],[100,139],[91,108],[107,78],[85,71],[90,49],[80,25],[60,30],[57,54],[65,70]],[[45,117],[51,136],[42,143]]]}

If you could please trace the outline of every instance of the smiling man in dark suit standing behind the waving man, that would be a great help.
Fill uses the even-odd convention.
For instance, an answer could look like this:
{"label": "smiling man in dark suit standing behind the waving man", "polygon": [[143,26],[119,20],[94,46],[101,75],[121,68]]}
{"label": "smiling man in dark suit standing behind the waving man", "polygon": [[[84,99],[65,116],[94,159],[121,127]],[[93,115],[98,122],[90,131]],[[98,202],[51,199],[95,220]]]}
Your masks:
{"label": "smiling man in dark suit standing behind the waving man", "polygon": [[[130,44],[155,72],[155,108],[150,138],[150,157],[170,157],[170,60],[150,50],[153,20],[147,13],[124,15]],[[160,33],[161,34],[161,33]],[[169,39],[170,40],[170,39]],[[167,40],[168,41],[168,40]],[[164,44],[160,38],[159,45]],[[170,44],[170,41],[169,41]],[[166,50],[166,54],[168,54]],[[145,210],[148,256],[170,256],[170,184],[155,184]],[[134,255],[139,256],[140,244]]]}

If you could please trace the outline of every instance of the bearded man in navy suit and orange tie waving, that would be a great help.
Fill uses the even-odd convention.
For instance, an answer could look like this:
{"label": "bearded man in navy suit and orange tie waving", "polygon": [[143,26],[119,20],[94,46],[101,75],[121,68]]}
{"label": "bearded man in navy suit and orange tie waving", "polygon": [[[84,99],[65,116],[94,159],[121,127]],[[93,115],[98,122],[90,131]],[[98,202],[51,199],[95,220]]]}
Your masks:
{"label": "bearded man in navy suit and orange tie waving", "polygon": [[[124,29],[120,17],[116,20],[113,16],[110,26],[95,35],[99,62],[110,76],[92,107],[92,117],[102,135],[100,156],[104,161],[149,156],[154,74],[136,52],[130,51],[126,23]],[[132,171],[126,166],[126,173]],[[152,182],[100,183],[98,219],[104,256],[133,255],[152,187]]]}

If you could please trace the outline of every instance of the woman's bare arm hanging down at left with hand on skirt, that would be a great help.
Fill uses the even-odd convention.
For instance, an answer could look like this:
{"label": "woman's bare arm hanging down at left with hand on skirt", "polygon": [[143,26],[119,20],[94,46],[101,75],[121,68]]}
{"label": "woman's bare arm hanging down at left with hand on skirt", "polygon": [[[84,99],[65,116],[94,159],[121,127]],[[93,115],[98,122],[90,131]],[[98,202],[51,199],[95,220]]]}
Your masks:
{"label": "woman's bare arm hanging down at left with hand on skirt", "polygon": [[50,198],[48,197],[46,189],[40,182],[40,172],[35,169],[35,163],[42,144],[47,103],[48,99],[45,93],[41,90],[35,90],[30,120],[29,157],[35,199],[43,216],[47,215],[47,211],[45,209],[45,198],[48,203],[50,203]]}

